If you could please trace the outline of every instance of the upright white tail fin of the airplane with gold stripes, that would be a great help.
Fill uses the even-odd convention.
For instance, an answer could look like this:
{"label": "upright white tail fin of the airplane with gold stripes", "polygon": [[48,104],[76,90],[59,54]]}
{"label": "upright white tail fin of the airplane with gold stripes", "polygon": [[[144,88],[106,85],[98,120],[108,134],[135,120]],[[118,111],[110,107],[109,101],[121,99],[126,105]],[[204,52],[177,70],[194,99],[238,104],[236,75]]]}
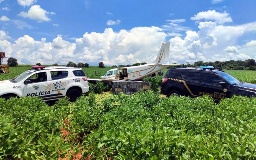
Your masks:
{"label": "upright white tail fin of the airplane with gold stripes", "polygon": [[169,62],[170,42],[163,43],[154,61],[155,64],[166,64]]}

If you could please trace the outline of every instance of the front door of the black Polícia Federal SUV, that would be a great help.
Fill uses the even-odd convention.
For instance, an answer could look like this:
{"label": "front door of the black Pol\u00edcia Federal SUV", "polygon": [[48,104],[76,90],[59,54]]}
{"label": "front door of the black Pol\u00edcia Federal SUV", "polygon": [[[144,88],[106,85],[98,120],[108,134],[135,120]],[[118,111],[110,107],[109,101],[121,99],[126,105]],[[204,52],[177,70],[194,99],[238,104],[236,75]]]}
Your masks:
{"label": "front door of the black Pol\u00edcia Federal SUV", "polygon": [[215,100],[220,100],[227,96],[227,89],[220,86],[219,83],[224,82],[218,75],[211,73],[202,73],[200,79],[199,95],[208,95]]}

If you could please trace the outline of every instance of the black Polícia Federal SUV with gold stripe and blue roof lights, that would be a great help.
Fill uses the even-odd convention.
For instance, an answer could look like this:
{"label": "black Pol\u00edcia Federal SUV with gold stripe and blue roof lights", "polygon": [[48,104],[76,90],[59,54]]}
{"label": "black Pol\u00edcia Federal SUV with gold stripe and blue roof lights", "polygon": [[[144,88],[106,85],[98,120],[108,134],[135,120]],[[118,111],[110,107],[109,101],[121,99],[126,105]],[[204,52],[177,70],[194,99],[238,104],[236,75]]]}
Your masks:
{"label": "black Pol\u00edcia Federal SUV with gold stripe and blue roof lights", "polygon": [[230,98],[232,95],[256,97],[256,84],[240,82],[212,66],[171,68],[162,80],[161,93],[190,97],[209,95],[215,100]]}

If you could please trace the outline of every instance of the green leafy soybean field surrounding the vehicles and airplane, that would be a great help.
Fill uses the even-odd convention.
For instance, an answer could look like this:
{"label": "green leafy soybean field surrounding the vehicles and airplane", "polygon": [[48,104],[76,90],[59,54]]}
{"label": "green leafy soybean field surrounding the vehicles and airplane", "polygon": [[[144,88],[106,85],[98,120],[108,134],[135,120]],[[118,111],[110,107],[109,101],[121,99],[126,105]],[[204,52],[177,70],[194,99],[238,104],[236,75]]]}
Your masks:
{"label": "green leafy soybean field surrounding the vehicles and airplane", "polygon": [[[29,68],[11,67],[0,80]],[[109,69],[83,68],[88,78]],[[256,82],[256,71],[225,72]],[[52,106],[36,97],[0,98],[0,107],[3,160],[256,159],[256,98],[215,104],[208,96],[166,98],[150,90],[131,96],[90,92]]]}

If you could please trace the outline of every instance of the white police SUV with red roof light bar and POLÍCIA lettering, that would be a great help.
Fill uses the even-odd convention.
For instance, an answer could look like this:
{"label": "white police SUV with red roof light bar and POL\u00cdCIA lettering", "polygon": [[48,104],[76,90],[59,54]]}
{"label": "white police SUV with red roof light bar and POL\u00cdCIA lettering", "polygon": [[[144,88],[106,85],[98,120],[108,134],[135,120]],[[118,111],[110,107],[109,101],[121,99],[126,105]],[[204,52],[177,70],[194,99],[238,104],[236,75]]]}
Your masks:
{"label": "white police SUV with red roof light bar and POL\u00cdCIA lettering", "polygon": [[0,81],[0,97],[42,97],[45,101],[68,96],[73,102],[88,92],[87,77],[78,67],[33,66],[14,79]]}

